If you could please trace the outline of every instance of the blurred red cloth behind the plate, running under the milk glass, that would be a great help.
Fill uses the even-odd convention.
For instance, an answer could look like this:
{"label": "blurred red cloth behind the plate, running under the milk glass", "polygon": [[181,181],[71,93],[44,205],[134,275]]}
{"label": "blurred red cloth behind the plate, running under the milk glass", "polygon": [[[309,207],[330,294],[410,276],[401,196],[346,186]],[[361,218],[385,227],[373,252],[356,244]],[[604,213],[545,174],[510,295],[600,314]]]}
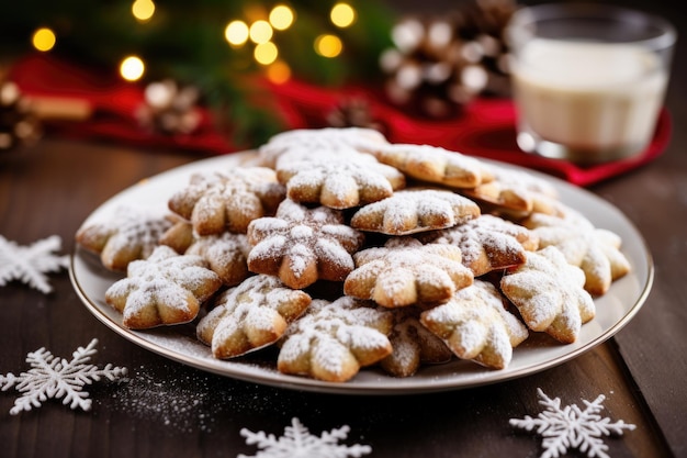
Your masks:
{"label": "blurred red cloth behind the plate, running under the milk glass", "polygon": [[[245,146],[235,145],[221,134],[212,113],[202,111],[200,127],[189,135],[162,135],[142,129],[136,111],[144,103],[143,88],[49,55],[31,55],[16,63],[10,72],[27,97],[53,97],[87,101],[92,115],[78,123],[53,123],[58,132],[70,136],[102,137],[142,146],[178,147],[211,154],[225,154]],[[270,93],[284,129],[326,126],[326,119],[346,100],[361,99],[374,120],[383,123],[384,134],[394,143],[423,143],[441,146],[466,155],[538,169],[578,186],[589,186],[628,172],[658,157],[671,137],[671,116],[664,109],[650,146],[642,154],[611,163],[581,167],[566,160],[549,159],[521,152],[516,144],[516,112],[509,99],[477,99],[460,115],[449,120],[412,116],[387,103],[370,88],[322,88],[291,80],[273,85],[256,80]]]}

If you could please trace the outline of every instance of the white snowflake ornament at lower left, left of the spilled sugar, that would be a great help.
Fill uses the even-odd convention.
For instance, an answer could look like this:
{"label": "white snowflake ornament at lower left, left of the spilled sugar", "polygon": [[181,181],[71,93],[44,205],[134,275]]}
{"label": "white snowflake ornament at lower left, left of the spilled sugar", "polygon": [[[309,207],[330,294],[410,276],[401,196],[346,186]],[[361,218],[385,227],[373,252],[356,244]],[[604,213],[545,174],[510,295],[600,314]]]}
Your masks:
{"label": "white snowflake ornament at lower left, left of the spilled sugar", "polygon": [[12,372],[7,376],[0,375],[2,391],[14,387],[16,391],[23,393],[14,401],[10,413],[16,415],[21,411],[40,407],[41,403],[49,398],[64,398],[63,404],[69,404],[71,409],[90,410],[91,400],[88,399],[88,392],[81,391],[83,386],[91,384],[101,377],[112,381],[127,372],[126,368],[113,367],[110,364],[103,369],[87,364],[91,356],[98,353],[97,344],[98,339],[94,338],[86,348],[77,348],[70,361],[53,356],[45,348],[40,348],[26,355],[26,362],[32,366],[27,372],[22,372],[20,376],[14,376]]}

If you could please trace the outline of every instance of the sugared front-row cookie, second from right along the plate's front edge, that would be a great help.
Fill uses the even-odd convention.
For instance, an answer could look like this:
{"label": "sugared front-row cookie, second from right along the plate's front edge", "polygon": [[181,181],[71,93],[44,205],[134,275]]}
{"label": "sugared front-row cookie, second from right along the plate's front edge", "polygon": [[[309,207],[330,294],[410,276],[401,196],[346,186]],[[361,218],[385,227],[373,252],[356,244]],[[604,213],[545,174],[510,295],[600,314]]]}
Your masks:
{"label": "sugared front-row cookie, second from right along the plate's front edge", "polygon": [[480,280],[423,312],[420,322],[459,358],[493,369],[506,368],[513,347],[528,337],[525,325],[506,311],[498,290]]}

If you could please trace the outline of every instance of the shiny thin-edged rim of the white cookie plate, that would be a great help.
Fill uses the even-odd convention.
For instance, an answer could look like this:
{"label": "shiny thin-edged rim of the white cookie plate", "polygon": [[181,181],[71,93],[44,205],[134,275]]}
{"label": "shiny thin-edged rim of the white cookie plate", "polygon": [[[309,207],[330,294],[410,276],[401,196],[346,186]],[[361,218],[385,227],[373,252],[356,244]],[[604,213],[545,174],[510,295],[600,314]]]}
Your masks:
{"label": "shiny thin-edged rim of the white cookie plate", "polygon": [[[159,174],[155,174],[144,180],[138,181],[137,183],[131,187],[127,187],[121,190],[120,192],[116,192],[115,194],[113,194],[112,197],[103,201],[100,205],[93,209],[93,211],[83,220],[82,224],[89,221],[89,219],[93,217],[95,213],[103,206],[111,204],[117,199],[121,199],[122,196],[124,196],[126,192],[133,191],[138,186],[142,186],[142,185],[145,186],[145,183],[148,182],[149,180],[153,180],[153,179],[164,180],[166,176],[168,175],[172,175],[172,174],[177,175],[177,174],[181,174],[184,171],[188,171],[189,174],[191,174],[194,169],[196,168],[203,169],[205,168],[204,167],[205,165],[209,165],[215,161],[221,163],[224,160],[228,160],[228,161],[240,160],[240,156],[249,156],[251,153],[255,153],[255,152],[251,152],[251,150],[237,152],[237,153],[232,153],[230,155],[203,158],[199,160],[193,160],[182,166],[173,167],[171,169],[161,171]],[[523,378],[527,376],[531,376],[531,375],[544,371],[547,369],[550,369],[552,367],[565,364],[574,358],[577,358],[582,354],[589,351],[596,346],[605,343],[610,337],[612,337],[618,332],[620,332],[630,321],[632,321],[632,319],[639,313],[643,304],[646,302],[646,299],[653,287],[653,281],[654,281],[654,276],[655,276],[655,266],[654,266],[654,260],[653,260],[653,256],[651,254],[650,247],[646,241],[644,239],[644,237],[641,235],[641,233],[634,225],[634,223],[632,223],[627,217],[627,215],[622,211],[620,211],[617,206],[615,206],[612,203],[608,202],[601,197],[594,194],[593,192],[582,187],[564,181],[558,177],[553,177],[550,175],[545,175],[543,172],[539,172],[537,170],[530,170],[523,167],[519,167],[519,166],[515,166],[515,165],[506,164],[506,163],[500,163],[500,161],[496,161],[492,159],[481,158],[480,160],[483,160],[487,164],[494,164],[499,167],[508,167],[508,168],[515,168],[518,170],[527,170],[528,174],[532,174],[534,176],[543,178],[547,181],[551,181],[556,188],[565,189],[566,192],[575,192],[575,193],[585,194],[586,198],[590,198],[595,202],[598,202],[599,204],[602,203],[604,205],[607,205],[608,208],[613,209],[613,211],[617,213],[616,216],[623,220],[622,223],[624,224],[626,228],[632,233],[633,237],[635,238],[635,242],[640,243],[642,260],[645,262],[646,275],[645,275],[645,278],[638,278],[638,281],[640,283],[640,288],[639,288],[640,291],[638,292],[638,295],[634,299],[634,303],[630,305],[628,310],[623,313],[623,315],[619,320],[617,320],[611,326],[604,329],[599,335],[596,335],[589,342],[585,343],[584,345],[578,346],[577,348],[572,349],[571,351],[565,353],[564,355],[554,357],[545,361],[529,364],[527,366],[523,366],[515,370],[505,369],[503,371],[498,371],[498,370],[483,368],[483,370],[486,372],[485,377],[477,377],[477,378],[474,378],[474,379],[471,379],[461,383],[457,383],[455,381],[451,381],[451,380],[447,380],[443,382],[431,380],[428,383],[415,383],[410,386],[384,384],[382,387],[379,383],[375,386],[370,386],[367,383],[362,383],[362,384],[351,383],[350,381],[349,382],[325,382],[325,381],[315,380],[315,379],[311,379],[306,377],[284,375],[275,370],[271,370],[271,369],[268,370],[267,368],[257,368],[256,371],[252,371],[252,370],[248,370],[250,368],[248,368],[247,365],[243,362],[225,361],[225,360],[217,359],[217,360],[212,361],[213,364],[210,364],[206,359],[199,359],[194,357],[193,355],[176,351],[172,348],[161,346],[158,343],[153,342],[149,338],[145,337],[147,333],[156,332],[156,328],[146,329],[146,331],[134,331],[134,329],[128,329],[122,326],[120,323],[115,321],[115,319],[111,316],[113,313],[105,312],[103,310],[104,308],[101,309],[101,305],[99,305],[91,298],[89,298],[89,295],[86,293],[85,289],[82,288],[79,279],[77,278],[76,272],[78,269],[77,269],[76,264],[79,260],[79,257],[81,256],[81,254],[83,254],[83,256],[93,255],[92,253],[80,247],[78,244],[75,244],[75,248],[69,255],[69,269],[68,269],[69,278],[78,298],[86,305],[87,310],[95,319],[98,319],[102,324],[104,324],[111,331],[114,331],[121,337],[124,337],[125,339],[138,345],[139,347],[146,350],[155,353],[170,360],[174,360],[177,362],[180,362],[190,367],[194,367],[199,370],[203,370],[206,372],[212,372],[218,376],[223,376],[223,377],[227,377],[227,378],[232,378],[236,380],[243,380],[246,382],[252,382],[252,383],[296,390],[296,391],[309,391],[309,392],[330,393],[330,394],[349,394],[349,395],[398,395],[398,394],[405,395],[405,394],[421,394],[421,393],[433,393],[433,392],[443,392],[443,391],[455,391],[455,390],[470,389],[470,388],[482,387],[482,386],[487,386],[487,384],[500,383],[500,382],[505,382],[508,380],[514,380],[514,379],[519,379],[519,378]],[[584,214],[584,212],[582,213]],[[162,327],[162,329],[170,329],[170,328],[172,327],[169,327],[169,328]],[[182,336],[179,336],[179,337],[182,337]],[[514,353],[514,357],[515,356],[516,354]],[[465,362],[469,362],[469,361],[465,361]],[[239,365],[241,368],[245,368],[246,370],[239,370],[239,371],[232,370],[230,367],[234,365]],[[384,375],[383,377],[385,380],[395,379],[387,375]],[[403,379],[399,379],[399,380],[403,380]]]}

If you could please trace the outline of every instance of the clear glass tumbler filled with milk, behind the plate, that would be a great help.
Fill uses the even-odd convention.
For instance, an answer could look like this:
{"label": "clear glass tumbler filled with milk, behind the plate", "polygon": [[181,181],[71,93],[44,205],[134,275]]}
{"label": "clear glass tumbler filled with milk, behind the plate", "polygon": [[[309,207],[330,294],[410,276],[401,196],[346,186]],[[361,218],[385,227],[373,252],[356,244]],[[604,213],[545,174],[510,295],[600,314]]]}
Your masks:
{"label": "clear glass tumbler filled with milk, behind the plate", "polygon": [[518,146],[598,164],[641,153],[664,102],[675,29],[599,3],[518,10],[508,27]]}

